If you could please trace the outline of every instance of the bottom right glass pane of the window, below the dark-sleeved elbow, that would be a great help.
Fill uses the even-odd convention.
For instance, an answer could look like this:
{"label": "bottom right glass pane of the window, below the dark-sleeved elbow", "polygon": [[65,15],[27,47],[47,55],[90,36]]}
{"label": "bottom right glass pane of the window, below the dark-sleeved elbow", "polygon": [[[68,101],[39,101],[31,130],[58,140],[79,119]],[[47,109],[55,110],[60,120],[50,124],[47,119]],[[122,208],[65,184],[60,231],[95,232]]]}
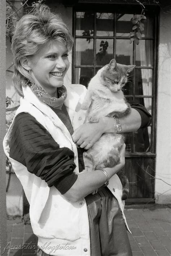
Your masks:
{"label": "bottom right glass pane of the window, below the dark-sleeved elbow", "polygon": [[134,132],[134,151],[150,152],[151,127]]}

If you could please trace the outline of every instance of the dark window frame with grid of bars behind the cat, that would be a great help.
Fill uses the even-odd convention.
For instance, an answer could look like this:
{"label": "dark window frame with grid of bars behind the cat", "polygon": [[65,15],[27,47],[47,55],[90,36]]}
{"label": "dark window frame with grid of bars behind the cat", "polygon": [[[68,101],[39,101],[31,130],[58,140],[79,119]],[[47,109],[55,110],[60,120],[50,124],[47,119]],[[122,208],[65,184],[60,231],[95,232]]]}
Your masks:
{"label": "dark window frame with grid of bars behind the cat", "polygon": [[[115,11],[111,11],[111,5],[114,7]],[[159,8],[156,5],[149,5],[146,7],[146,14],[150,15],[153,13],[154,22],[153,22],[153,37],[143,37],[142,40],[153,40],[153,59],[152,66],[136,66],[135,69],[151,69],[153,71],[153,79],[152,79],[152,95],[135,95],[135,69],[133,70],[133,94],[125,95],[126,98],[151,98],[152,99],[152,124],[151,127],[151,138],[150,138],[150,152],[133,152],[134,145],[134,132],[131,133],[131,152],[129,152],[126,157],[136,157],[136,156],[144,156],[144,157],[155,157],[155,149],[156,149],[156,113],[157,113],[157,48],[158,48],[158,29],[159,29]],[[94,13],[94,33],[93,36],[76,36],[76,12],[86,12],[91,10]],[[93,75],[96,74],[96,68],[101,68],[104,65],[96,65],[96,38],[97,39],[113,39],[113,58],[116,58],[116,40],[117,39],[126,39],[130,40],[130,37],[116,36],[116,14],[117,13],[128,13],[132,15],[137,12],[137,14],[141,13],[142,9],[137,4],[78,4],[73,8],[73,37],[74,37],[74,47],[73,47],[73,61],[72,61],[72,82],[75,83],[75,68],[92,68]],[[114,35],[113,36],[96,36],[96,15],[97,12],[103,13],[114,13]],[[76,53],[76,38],[93,38],[93,64],[92,65],[76,65],[75,63],[75,53]],[[129,41],[128,41],[129,42]],[[133,65],[136,62],[136,43],[133,41]]]}

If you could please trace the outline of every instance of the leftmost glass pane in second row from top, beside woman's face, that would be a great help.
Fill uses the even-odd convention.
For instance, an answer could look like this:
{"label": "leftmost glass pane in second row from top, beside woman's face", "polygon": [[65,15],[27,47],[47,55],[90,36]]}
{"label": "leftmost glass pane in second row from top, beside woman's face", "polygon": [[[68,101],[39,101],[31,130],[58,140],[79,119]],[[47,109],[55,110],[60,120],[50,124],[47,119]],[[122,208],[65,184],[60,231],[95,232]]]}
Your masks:
{"label": "leftmost glass pane in second row from top, beside woman's face", "polygon": [[75,63],[76,65],[93,64],[93,39],[76,39]]}

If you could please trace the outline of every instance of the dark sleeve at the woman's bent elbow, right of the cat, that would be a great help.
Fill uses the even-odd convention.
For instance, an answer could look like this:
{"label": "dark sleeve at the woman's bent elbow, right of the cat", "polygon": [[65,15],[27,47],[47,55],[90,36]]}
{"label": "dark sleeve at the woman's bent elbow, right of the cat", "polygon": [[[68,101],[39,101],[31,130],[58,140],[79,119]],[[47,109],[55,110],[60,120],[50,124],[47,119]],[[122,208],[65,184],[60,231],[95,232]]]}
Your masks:
{"label": "dark sleeve at the woman's bent elbow, right of the cat", "polygon": [[140,128],[148,127],[152,122],[152,116],[150,115],[150,113],[146,110],[144,106],[142,106],[139,103],[135,103],[132,101],[130,101],[129,103],[131,105],[131,108],[135,108],[140,113],[140,116],[141,116]]}

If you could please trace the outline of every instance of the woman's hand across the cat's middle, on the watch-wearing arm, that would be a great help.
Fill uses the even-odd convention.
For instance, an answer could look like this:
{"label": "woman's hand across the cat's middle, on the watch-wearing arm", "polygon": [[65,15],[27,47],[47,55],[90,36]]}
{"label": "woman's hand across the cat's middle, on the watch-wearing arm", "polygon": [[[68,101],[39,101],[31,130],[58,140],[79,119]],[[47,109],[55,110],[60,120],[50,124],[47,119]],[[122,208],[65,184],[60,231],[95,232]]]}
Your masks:
{"label": "woman's hand across the cat's middle, on the watch-wearing arm", "polygon": [[78,127],[72,137],[80,148],[89,149],[101,137],[105,131],[105,123],[102,119],[98,123],[85,123]]}

